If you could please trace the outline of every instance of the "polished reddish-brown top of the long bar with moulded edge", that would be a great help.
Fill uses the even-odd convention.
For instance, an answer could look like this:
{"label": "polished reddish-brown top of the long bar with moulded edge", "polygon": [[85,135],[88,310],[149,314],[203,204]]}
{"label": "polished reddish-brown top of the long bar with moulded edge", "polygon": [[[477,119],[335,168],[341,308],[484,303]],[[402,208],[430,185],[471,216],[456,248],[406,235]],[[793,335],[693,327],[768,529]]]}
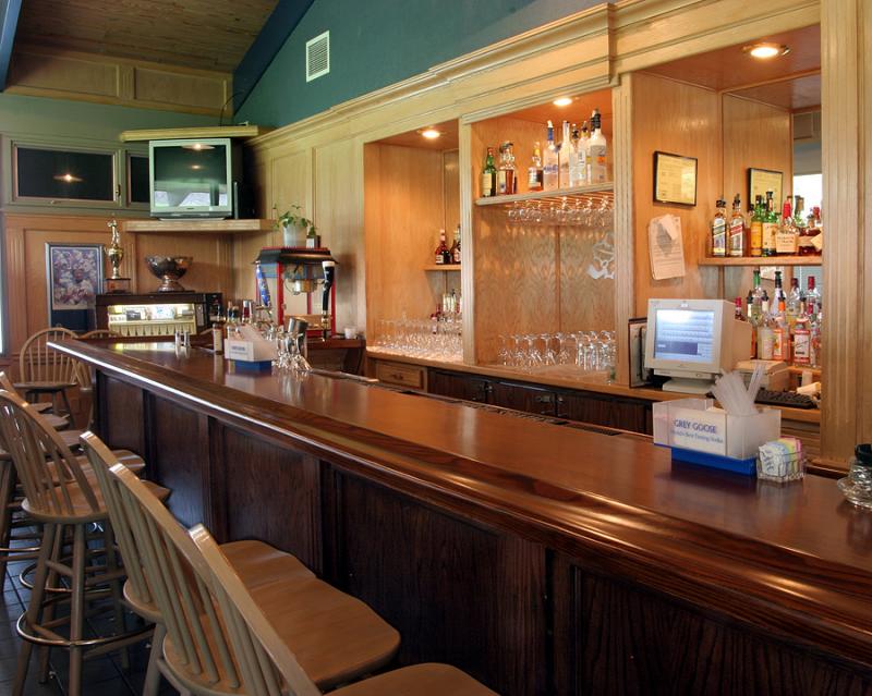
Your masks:
{"label": "polished reddish-brown top of the long bar with moulded edge", "polygon": [[673,464],[639,437],[322,375],[233,373],[220,356],[180,355],[169,342],[55,345],[169,399],[351,457],[382,479],[508,515],[558,550],[594,544],[814,615],[845,650],[872,655],[872,515],[832,479],[756,481]]}

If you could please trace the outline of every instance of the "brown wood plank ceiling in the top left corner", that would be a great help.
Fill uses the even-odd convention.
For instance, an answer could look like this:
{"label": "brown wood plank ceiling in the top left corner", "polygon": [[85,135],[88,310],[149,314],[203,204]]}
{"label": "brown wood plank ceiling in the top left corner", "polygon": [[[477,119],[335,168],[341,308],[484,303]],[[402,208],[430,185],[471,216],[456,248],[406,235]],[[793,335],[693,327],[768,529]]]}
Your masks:
{"label": "brown wood plank ceiling in the top left corner", "polygon": [[27,0],[15,41],[232,73],[278,0]]}

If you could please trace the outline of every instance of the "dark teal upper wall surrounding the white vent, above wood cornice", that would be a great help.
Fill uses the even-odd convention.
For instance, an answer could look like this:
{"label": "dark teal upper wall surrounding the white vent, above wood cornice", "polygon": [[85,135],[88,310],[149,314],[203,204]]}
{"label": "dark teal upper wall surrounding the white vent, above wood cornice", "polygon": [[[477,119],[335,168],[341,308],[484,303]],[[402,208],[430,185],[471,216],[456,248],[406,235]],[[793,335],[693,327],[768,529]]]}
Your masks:
{"label": "dark teal upper wall surrounding the white vent, above wood cornice", "polygon": [[[293,123],[603,0],[315,0],[235,120]],[[330,74],[305,81],[305,44],[330,32]]]}

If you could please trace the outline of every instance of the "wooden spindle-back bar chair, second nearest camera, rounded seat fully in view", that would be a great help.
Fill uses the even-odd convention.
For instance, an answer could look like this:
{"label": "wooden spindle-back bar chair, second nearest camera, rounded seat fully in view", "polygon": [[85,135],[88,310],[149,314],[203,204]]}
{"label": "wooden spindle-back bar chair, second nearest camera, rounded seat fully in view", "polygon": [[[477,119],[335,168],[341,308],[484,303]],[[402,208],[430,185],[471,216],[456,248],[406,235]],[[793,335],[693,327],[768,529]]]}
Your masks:
{"label": "wooden spindle-back bar chair, second nearest camera, rounded seat fully in view", "polygon": [[[247,689],[225,632],[226,618],[207,582],[208,570],[191,538],[123,466],[110,474],[143,558],[150,589],[167,628],[164,660],[193,694],[261,694]],[[226,549],[226,547],[223,547]],[[287,554],[282,554],[287,555]],[[397,632],[366,605],[315,577],[252,582],[234,576],[298,656],[312,682],[332,688],[386,664],[399,645]],[[317,693],[317,692],[315,692]]]}

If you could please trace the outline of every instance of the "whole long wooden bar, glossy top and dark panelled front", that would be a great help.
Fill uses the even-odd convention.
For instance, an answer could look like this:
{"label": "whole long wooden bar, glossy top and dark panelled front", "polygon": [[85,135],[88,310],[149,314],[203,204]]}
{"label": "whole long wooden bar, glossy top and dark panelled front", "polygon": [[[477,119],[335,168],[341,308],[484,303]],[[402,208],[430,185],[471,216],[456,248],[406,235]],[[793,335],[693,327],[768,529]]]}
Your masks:
{"label": "whole long wooden bar, glossy top and dark panelled front", "polygon": [[400,631],[402,663],[518,696],[872,694],[872,515],[832,479],[172,343],[57,347],[184,524],[296,554]]}

